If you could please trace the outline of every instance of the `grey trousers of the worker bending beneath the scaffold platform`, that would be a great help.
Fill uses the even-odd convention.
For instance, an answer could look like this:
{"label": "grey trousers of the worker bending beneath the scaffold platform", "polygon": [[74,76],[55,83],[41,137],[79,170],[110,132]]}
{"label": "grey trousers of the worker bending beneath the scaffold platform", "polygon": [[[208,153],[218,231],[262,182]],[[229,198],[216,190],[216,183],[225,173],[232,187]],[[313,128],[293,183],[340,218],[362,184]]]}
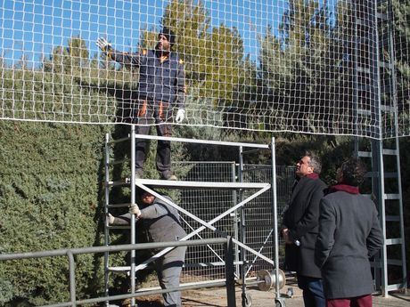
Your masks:
{"label": "grey trousers of the worker bending beneath the scaffold platform", "polygon": [[[186,246],[176,247],[155,262],[158,280],[162,289],[179,287],[179,276],[184,265]],[[165,307],[181,307],[181,292],[162,295]]]}

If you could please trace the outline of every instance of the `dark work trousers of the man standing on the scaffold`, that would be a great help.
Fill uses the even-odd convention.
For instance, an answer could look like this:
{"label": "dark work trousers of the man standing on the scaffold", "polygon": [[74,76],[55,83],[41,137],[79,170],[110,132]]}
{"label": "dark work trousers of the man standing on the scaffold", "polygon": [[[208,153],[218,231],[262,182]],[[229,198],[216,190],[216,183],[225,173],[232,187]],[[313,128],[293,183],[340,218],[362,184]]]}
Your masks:
{"label": "dark work trousers of the man standing on the scaffold", "polygon": [[[136,117],[134,123],[136,126],[135,133],[149,134],[151,125],[156,124],[157,134],[159,136],[171,136],[172,125],[169,123],[172,120],[172,108],[169,108],[168,102],[138,100],[137,109],[135,109]],[[135,168],[137,174],[143,174],[143,163],[145,162],[148,150],[148,140],[135,140]],[[171,142],[158,141],[157,146],[157,170],[161,173],[167,173],[171,169]]]}

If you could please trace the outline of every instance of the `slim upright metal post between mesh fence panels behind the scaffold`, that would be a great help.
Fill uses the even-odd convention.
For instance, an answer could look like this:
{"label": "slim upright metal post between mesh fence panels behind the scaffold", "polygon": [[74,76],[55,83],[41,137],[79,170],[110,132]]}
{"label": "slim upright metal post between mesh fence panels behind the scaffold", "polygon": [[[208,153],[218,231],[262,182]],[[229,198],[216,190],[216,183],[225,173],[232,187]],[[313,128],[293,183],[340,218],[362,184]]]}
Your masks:
{"label": "slim upright metal post between mesh fence panels behind the scaffold", "polygon": [[[243,182],[243,146],[239,147],[239,181]],[[239,191],[239,198],[242,201],[242,190]],[[241,242],[246,244],[246,231],[245,231],[245,209],[241,207],[241,215],[240,215],[240,230],[241,230]],[[242,278],[242,307],[246,307],[247,305],[247,297],[246,297],[246,271],[247,271],[247,264],[246,264],[246,251],[243,247],[241,247],[241,278]]]}

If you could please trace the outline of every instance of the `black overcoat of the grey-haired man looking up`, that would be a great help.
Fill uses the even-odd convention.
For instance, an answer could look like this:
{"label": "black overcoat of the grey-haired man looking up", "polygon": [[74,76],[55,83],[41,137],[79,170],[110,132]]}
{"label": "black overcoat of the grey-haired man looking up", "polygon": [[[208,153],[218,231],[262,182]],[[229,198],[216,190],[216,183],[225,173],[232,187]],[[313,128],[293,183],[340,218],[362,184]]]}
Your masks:
{"label": "black overcoat of the grey-haired man looking up", "polygon": [[300,243],[299,246],[285,246],[286,270],[319,279],[321,273],[315,264],[315,243],[319,230],[319,203],[325,189],[326,185],[320,179],[300,178],[283,213],[283,227],[289,229],[291,241]]}

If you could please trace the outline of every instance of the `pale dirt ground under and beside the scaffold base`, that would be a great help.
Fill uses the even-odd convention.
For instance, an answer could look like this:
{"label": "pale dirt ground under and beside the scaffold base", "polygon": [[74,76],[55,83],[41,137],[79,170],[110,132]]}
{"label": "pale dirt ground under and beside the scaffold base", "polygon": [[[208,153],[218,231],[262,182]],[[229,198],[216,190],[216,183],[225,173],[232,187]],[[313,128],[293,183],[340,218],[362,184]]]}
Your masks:
{"label": "pale dirt ground under and beside the scaffold base", "polygon": [[[293,296],[288,297],[287,289],[293,289]],[[236,287],[236,306],[242,307],[241,287]],[[248,294],[252,300],[252,307],[275,306],[275,291],[259,291],[257,287],[250,287]],[[303,307],[302,293],[295,283],[295,280],[287,280],[285,287],[281,290],[286,307]],[[160,307],[160,295],[146,299],[137,300],[139,307]],[[182,293],[184,307],[226,307],[225,288],[208,288],[199,290],[189,290]],[[410,307],[410,292],[407,294],[390,294],[389,297],[373,295],[373,307]]]}

